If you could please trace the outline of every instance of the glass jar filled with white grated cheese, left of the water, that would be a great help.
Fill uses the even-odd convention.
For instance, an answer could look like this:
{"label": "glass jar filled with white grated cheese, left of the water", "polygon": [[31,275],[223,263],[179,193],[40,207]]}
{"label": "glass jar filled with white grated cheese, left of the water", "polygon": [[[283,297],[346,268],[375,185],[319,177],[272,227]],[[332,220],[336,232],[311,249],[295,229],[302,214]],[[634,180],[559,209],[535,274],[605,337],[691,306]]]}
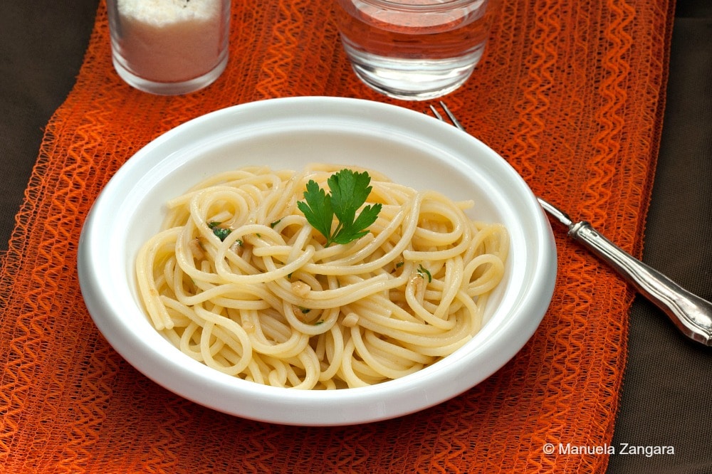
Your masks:
{"label": "glass jar filled with white grated cheese, left of the water", "polygon": [[180,95],[228,60],[230,0],[107,0],[114,69],[134,88]]}

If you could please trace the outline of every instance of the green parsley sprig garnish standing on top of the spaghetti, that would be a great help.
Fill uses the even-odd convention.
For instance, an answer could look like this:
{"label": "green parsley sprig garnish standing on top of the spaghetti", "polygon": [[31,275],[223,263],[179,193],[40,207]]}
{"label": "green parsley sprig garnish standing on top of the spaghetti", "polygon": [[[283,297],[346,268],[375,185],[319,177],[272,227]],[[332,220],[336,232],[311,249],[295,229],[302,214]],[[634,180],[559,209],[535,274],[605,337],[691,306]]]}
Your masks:
{"label": "green parsley sprig garnish standing on top of the spaghetti", "polygon": [[[330,194],[310,180],[304,191],[305,201],[297,206],[307,221],[326,238],[326,246],[332,243],[349,243],[368,233],[368,226],[376,221],[381,204],[365,206],[356,216],[356,211],[371,194],[371,177],[367,172],[342,169],[327,180]],[[332,231],[334,216],[338,219]]]}

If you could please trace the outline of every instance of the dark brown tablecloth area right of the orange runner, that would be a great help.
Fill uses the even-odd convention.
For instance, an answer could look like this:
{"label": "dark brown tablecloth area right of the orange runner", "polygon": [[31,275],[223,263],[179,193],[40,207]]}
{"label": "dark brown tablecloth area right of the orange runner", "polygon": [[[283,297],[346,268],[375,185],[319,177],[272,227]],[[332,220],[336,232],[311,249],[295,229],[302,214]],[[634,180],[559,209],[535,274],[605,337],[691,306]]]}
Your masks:
{"label": "dark brown tablecloth area right of the orange runner", "polygon": [[[643,260],[712,300],[712,2],[678,0],[661,149]],[[675,455],[614,455],[611,473],[712,473],[712,348],[677,334],[638,298],[614,444]]]}

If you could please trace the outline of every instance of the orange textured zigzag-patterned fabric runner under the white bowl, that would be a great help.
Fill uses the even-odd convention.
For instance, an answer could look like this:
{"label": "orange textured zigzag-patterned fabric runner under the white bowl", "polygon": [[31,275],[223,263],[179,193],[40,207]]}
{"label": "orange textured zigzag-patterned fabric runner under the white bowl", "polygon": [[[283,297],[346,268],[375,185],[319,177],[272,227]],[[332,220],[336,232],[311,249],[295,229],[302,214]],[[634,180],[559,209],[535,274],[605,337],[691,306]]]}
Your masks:
{"label": "orange textured zigzag-patterned fabric runner under the white bowl", "polygon": [[[508,0],[447,102],[535,193],[639,254],[659,145],[674,0]],[[526,346],[491,378],[392,421],[300,428],[186,401],[130,367],[80,295],[80,228],[137,149],[206,112],[361,85],[330,1],[234,1],[226,72],[184,97],[112,70],[105,6],[75,88],[46,128],[0,281],[0,469],[8,473],[602,472],[607,455],[545,443],[612,439],[632,291],[555,228],[559,277]]]}

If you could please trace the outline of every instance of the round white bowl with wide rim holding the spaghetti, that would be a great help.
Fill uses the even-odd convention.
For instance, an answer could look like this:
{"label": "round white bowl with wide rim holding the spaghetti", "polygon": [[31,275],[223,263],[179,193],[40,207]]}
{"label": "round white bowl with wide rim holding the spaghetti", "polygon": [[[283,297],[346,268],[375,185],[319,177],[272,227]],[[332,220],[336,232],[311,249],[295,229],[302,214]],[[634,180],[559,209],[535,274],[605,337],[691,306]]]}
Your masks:
{"label": "round white bowl with wide rim holding the spaghetti", "polygon": [[[506,276],[483,328],[464,347],[401,379],[356,389],[300,391],[222,374],[175,348],[141,309],[136,253],[157,233],[163,204],[217,172],[255,164],[300,169],[358,164],[415,189],[474,199],[472,217],[511,236]],[[140,372],[186,399],[272,423],[334,426],[413,413],[461,394],[500,369],[533,335],[556,275],[553,234],[535,196],[501,157],[455,127],[402,107],[347,98],[283,98],[212,112],[137,152],[85,221],[78,271],[87,308],[108,342]]]}

